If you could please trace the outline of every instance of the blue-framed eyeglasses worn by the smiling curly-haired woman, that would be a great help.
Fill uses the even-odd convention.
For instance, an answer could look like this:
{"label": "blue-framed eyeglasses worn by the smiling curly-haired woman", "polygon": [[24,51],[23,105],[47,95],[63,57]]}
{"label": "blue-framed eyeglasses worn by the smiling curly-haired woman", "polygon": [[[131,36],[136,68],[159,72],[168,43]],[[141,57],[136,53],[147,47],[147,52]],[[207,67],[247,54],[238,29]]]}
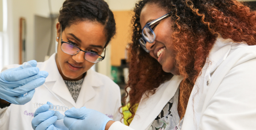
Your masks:
{"label": "blue-framed eyeglasses worn by the smiling curly-haired woman", "polygon": [[157,19],[155,19],[154,21],[151,21],[149,23],[147,23],[143,29],[142,29],[142,38],[139,39],[139,43],[140,43],[140,46],[146,51],[149,53],[149,50],[146,49],[146,42],[149,42],[149,43],[153,43],[154,40],[155,40],[155,32],[153,31],[153,29],[150,27],[152,26],[153,24],[161,21],[162,19],[164,18],[167,18],[169,15],[171,15],[172,12],[169,12]]}

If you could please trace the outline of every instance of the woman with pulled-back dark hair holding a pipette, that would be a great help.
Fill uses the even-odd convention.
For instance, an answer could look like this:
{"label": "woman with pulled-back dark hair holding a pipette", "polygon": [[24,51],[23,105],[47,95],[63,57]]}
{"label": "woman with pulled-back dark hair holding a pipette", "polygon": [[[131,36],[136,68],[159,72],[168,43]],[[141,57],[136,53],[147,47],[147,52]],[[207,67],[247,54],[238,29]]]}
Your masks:
{"label": "woman with pulled-back dark hair holding a pipette", "polygon": [[[48,111],[50,103],[63,104],[41,86],[43,83],[69,108],[87,107],[120,120],[119,86],[90,69],[104,60],[106,46],[116,32],[115,25],[113,13],[105,1],[66,0],[56,24],[57,53],[45,62],[29,61],[31,68],[4,67],[0,81],[0,129],[67,129],[60,113]],[[35,102],[47,103],[39,109],[40,114],[35,112],[32,104]],[[31,127],[34,117],[36,125]],[[39,118],[45,120],[37,120]]]}

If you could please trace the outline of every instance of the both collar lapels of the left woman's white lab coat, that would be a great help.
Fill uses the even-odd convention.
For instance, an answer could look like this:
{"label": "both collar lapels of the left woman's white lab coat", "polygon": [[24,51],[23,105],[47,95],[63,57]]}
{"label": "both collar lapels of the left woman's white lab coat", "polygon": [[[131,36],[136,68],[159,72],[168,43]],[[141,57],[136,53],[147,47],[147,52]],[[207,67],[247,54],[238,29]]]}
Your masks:
{"label": "both collar lapels of the left woman's white lab coat", "polygon": [[[101,80],[98,79],[98,74],[92,69],[87,70],[86,76],[82,83],[81,90],[79,92],[79,96],[76,102],[74,102],[72,96],[66,84],[59,73],[56,60],[55,60],[55,53],[50,56],[50,58],[43,62],[41,66],[41,70],[47,71],[49,73],[48,77],[46,78],[46,82],[56,81],[53,85],[52,91],[63,98],[64,100],[71,103],[74,107],[80,108],[82,107],[87,101],[93,98],[96,95],[94,87],[100,87],[104,85]],[[61,91],[60,91],[61,90]],[[77,104],[81,104],[77,106]]]}

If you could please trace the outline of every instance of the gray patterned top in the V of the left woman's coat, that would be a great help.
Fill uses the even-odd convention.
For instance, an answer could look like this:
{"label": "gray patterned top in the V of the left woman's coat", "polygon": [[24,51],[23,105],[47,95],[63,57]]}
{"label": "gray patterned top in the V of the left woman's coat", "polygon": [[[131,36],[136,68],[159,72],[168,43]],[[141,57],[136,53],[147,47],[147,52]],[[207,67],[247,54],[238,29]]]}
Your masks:
{"label": "gray patterned top in the V of the left woman's coat", "polygon": [[64,80],[64,82],[65,82],[66,86],[68,87],[68,90],[75,102],[78,98],[83,81],[84,81],[84,78],[76,80],[76,81]]}

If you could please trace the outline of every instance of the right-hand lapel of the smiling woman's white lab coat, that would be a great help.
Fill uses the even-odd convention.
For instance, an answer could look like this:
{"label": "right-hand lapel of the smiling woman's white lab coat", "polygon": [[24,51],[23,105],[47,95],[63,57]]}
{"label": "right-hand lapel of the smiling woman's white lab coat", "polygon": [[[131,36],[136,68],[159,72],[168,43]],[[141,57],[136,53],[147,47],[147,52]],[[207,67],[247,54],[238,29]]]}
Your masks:
{"label": "right-hand lapel of the smiling woman's white lab coat", "polygon": [[201,75],[197,78],[192,89],[184,115],[182,130],[195,130],[191,126],[194,126],[194,124],[199,121],[198,117],[201,116],[201,106],[203,105],[201,103],[206,96],[203,94],[208,91],[208,88],[213,81],[211,79],[211,73],[214,72],[214,70],[225,60],[230,52],[232,43],[233,42],[230,39],[223,39],[221,37],[217,38],[209,56],[207,57],[206,63],[201,71]]}

